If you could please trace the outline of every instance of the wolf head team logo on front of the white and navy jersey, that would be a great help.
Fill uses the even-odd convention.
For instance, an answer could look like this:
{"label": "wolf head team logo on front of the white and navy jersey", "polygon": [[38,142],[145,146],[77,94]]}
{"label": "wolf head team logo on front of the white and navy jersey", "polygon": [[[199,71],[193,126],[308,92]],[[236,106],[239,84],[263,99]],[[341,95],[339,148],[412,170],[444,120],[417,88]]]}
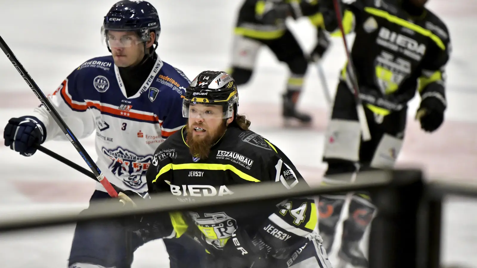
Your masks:
{"label": "wolf head team logo on front of the white and navy jersey", "polygon": [[145,179],[147,168],[151,165],[152,155],[136,155],[121,147],[116,149],[103,147],[101,151],[112,160],[109,170],[123,180],[125,185],[134,189],[143,186],[143,178]]}

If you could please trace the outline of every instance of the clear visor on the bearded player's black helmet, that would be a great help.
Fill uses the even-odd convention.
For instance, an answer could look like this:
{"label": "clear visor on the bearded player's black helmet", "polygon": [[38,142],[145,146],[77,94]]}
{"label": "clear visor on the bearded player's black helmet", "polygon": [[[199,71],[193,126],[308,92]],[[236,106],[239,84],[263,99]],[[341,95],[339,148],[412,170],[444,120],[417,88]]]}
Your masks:
{"label": "clear visor on the bearded player's black helmet", "polygon": [[[182,116],[186,118],[201,118],[201,119],[225,119],[233,115],[233,106],[194,103],[184,100],[182,103]],[[225,110],[225,111],[224,111]]]}

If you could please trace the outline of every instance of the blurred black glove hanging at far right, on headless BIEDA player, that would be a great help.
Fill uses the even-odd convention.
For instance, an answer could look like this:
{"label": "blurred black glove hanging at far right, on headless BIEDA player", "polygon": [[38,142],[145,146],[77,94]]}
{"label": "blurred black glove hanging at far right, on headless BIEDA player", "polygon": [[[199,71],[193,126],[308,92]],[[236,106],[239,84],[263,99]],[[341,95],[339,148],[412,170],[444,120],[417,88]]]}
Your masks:
{"label": "blurred black glove hanging at far right, on headless BIEDA player", "polygon": [[444,122],[446,105],[436,97],[427,97],[421,101],[417,109],[416,119],[421,123],[425,132],[434,132]]}

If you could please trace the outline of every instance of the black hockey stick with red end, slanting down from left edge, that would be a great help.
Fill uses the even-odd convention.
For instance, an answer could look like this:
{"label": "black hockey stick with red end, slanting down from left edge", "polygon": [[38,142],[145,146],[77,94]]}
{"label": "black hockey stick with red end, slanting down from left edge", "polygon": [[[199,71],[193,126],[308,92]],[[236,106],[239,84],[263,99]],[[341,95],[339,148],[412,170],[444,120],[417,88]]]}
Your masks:
{"label": "black hockey stick with red end, slanting down from left edge", "polygon": [[74,136],[73,132],[68,128],[68,126],[64,123],[63,119],[61,116],[58,114],[58,112],[55,110],[55,108],[52,106],[50,101],[46,98],[45,94],[43,94],[38,87],[38,85],[33,81],[31,76],[28,74],[28,72],[23,68],[21,63],[18,61],[18,59],[15,57],[13,52],[10,50],[8,47],[7,43],[3,40],[3,38],[0,36],[0,47],[7,55],[7,58],[10,60],[11,64],[15,66],[17,71],[20,73],[21,77],[25,80],[25,82],[28,84],[30,89],[35,93],[37,98],[40,100],[40,102],[45,106],[45,109],[50,113],[50,115],[53,117],[55,120],[56,124],[60,126],[61,130],[63,133],[66,135],[66,137],[70,140],[70,142],[73,144],[73,146],[76,148],[78,153],[83,157],[83,160],[86,162],[86,164],[90,167],[91,171],[93,172],[94,176],[96,177],[96,181],[100,182],[108,194],[111,197],[117,197],[118,193],[114,189],[114,187],[111,185],[111,183],[106,179],[106,177],[101,173],[101,170],[98,168],[98,166],[94,163],[93,159],[91,156],[88,155],[86,150],[84,150],[83,146],[77,141],[76,137]]}

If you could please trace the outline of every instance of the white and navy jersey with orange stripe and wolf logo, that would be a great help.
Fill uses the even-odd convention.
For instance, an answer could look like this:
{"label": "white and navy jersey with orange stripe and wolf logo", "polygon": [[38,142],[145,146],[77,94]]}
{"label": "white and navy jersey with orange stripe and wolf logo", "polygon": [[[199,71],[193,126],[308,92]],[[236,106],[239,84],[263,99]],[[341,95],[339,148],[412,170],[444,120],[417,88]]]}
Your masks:
{"label": "white and navy jersey with orange stripe and wolf logo", "polygon": [[[112,184],[145,192],[154,151],[187,122],[181,109],[189,83],[182,71],[157,57],[140,90],[127,97],[113,57],[105,56],[84,62],[48,99],[77,138],[96,132],[96,164]],[[45,125],[45,141],[66,139],[42,105],[33,115]],[[100,183],[96,189],[105,192]]]}

